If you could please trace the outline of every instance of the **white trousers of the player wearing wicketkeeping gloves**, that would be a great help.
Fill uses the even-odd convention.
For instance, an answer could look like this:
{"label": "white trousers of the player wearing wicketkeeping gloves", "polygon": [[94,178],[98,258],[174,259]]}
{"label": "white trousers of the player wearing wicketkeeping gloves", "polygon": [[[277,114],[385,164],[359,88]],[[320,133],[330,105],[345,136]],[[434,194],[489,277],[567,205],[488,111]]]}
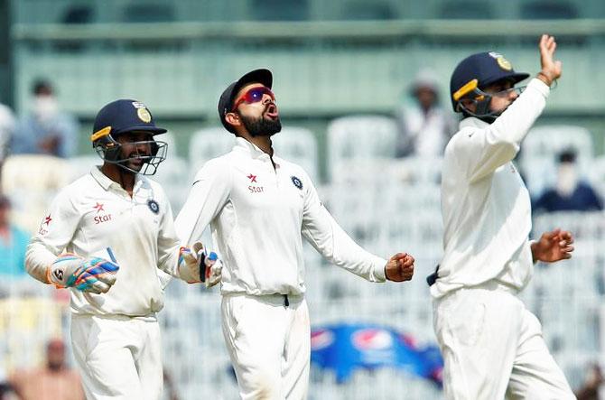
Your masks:
{"label": "white trousers of the player wearing wicketkeeping gloves", "polygon": [[71,316],[71,345],[87,400],[158,400],[160,326],[154,317]]}

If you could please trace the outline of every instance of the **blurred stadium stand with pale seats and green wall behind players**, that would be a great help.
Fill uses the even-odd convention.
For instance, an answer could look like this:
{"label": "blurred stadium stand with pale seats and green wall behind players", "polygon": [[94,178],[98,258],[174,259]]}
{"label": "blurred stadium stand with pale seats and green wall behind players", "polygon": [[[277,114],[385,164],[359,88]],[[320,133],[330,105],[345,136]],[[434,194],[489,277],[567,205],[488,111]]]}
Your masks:
{"label": "blurred stadium stand with pale seats and green wall behind players", "polygon": [[[47,159],[9,156],[3,190],[15,221],[36,229],[57,189],[98,161],[88,142],[98,109],[136,98],[170,128],[170,159],[157,179],[178,211],[191,174],[229,149],[231,135],[217,128],[220,92],[247,70],[268,67],[284,124],[276,151],[305,166],[358,243],[417,260],[409,284],[368,284],[307,248],[312,325],[381,323],[432,343],[424,276],[442,253],[440,159],[395,158],[396,107],[416,73],[432,69],[449,109],[451,70],[476,51],[502,52],[516,70],[534,74],[541,33],[557,38],[563,79],[519,165],[536,196],[554,180],[555,154],[573,145],[582,174],[604,194],[602,0],[0,0],[0,102],[23,115],[34,80],[48,79],[61,107],[81,123],[79,155],[52,160],[52,167]],[[554,227],[575,233],[575,256],[536,265],[523,297],[576,389],[605,356],[605,215],[535,218],[535,232]],[[68,338],[69,312],[65,293],[29,276],[0,284],[0,369],[9,374],[39,364],[49,338]],[[164,365],[179,398],[237,398],[218,291],[172,282],[161,320]],[[442,396],[431,382],[388,368],[359,370],[343,385],[313,368],[310,387],[310,399]]]}

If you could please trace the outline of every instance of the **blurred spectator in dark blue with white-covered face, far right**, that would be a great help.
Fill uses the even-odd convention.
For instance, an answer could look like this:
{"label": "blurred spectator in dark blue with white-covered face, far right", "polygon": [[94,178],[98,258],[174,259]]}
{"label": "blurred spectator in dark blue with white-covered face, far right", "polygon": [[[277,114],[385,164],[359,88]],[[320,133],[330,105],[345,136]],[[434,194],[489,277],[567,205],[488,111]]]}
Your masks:
{"label": "blurred spectator in dark blue with white-covered face, far right", "polygon": [[603,201],[591,185],[578,178],[574,150],[563,150],[558,156],[557,181],[546,188],[535,201],[535,211],[595,211],[603,209]]}

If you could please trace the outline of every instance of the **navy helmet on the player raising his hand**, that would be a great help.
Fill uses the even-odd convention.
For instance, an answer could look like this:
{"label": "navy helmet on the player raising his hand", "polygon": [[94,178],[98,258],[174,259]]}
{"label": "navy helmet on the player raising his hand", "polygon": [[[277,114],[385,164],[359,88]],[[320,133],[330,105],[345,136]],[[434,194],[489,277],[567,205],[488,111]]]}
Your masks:
{"label": "navy helmet on the player raising his hand", "polygon": [[527,73],[515,72],[510,62],[496,51],[472,54],[461,60],[451,74],[451,105],[454,111],[457,111],[458,100],[469,94],[473,88],[486,88],[503,79],[510,79],[517,83],[527,77],[529,77]]}

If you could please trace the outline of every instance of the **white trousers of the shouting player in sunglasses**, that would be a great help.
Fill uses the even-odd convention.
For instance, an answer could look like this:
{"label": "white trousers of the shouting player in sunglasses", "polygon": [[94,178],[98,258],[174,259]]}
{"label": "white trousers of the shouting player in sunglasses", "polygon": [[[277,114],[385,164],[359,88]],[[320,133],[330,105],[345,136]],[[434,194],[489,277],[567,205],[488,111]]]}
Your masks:
{"label": "white trousers of the shouting player in sunglasses", "polygon": [[225,294],[222,328],[243,400],[302,400],[311,327],[304,296]]}

